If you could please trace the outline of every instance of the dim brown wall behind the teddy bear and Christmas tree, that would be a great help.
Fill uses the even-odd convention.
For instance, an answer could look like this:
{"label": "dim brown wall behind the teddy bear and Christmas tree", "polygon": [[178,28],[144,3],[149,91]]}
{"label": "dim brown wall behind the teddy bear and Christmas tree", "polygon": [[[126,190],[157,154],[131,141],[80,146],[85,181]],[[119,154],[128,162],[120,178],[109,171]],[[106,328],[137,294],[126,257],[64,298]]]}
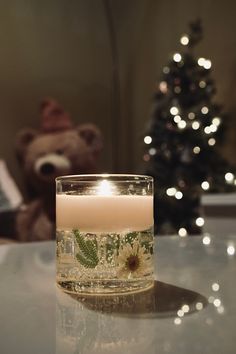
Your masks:
{"label": "dim brown wall behind the teddy bear and Christmas tree", "polygon": [[204,38],[196,55],[212,61],[216,101],[229,113],[222,152],[236,162],[235,14],[234,0],[1,0],[0,158],[17,184],[15,136],[39,126],[45,96],[58,99],[75,123],[101,128],[102,171],[139,172],[155,81],[197,17]]}

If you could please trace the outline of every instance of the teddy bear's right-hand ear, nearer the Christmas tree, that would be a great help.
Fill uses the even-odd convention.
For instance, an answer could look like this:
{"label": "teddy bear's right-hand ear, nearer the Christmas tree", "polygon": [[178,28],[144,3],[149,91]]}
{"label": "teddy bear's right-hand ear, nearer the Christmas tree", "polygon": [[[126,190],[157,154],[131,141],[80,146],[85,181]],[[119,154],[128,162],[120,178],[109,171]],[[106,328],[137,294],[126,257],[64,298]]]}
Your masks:
{"label": "teddy bear's right-hand ear, nearer the Christmas tree", "polygon": [[86,144],[91,147],[96,154],[102,149],[102,134],[94,124],[82,124],[77,127],[77,131]]}

